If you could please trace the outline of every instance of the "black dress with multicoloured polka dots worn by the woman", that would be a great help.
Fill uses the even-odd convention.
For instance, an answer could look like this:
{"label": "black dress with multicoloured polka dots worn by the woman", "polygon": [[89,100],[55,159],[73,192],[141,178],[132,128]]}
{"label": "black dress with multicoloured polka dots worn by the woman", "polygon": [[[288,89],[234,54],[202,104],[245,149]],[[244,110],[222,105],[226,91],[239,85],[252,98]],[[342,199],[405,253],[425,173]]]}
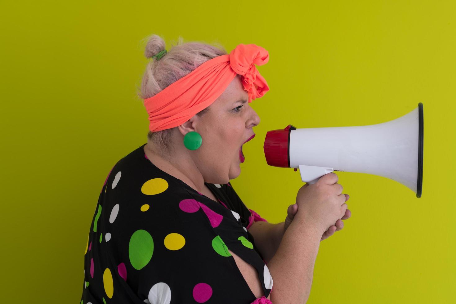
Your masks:
{"label": "black dress with multicoloured polka dots worn by the woman", "polygon": [[[109,172],[88,233],[81,304],[271,303],[273,280],[248,228],[266,221],[230,183],[213,201],[156,167],[143,147]],[[233,256],[258,271],[256,299]]]}

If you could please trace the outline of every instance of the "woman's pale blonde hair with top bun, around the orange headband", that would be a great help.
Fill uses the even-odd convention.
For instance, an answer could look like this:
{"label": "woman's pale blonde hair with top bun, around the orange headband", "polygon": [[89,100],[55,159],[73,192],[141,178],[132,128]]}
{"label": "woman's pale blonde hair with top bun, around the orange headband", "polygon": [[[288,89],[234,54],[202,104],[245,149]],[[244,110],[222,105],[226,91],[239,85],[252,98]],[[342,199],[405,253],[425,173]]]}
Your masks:
{"label": "woman's pale blonde hair with top bun, around the orange headband", "polygon": [[[166,48],[165,41],[158,35],[152,34],[142,39],[142,41],[145,40],[147,40],[147,44],[144,55],[147,58],[155,56]],[[220,44],[214,43],[213,45],[197,41],[183,43],[182,37],[179,36],[176,46],[167,50],[159,60],[154,58],[147,64],[138,96],[141,99],[152,97],[171,83],[192,72],[202,63],[214,57],[228,54]],[[197,115],[203,116],[209,111],[209,108],[210,106]],[[176,128],[156,132],[149,131],[147,137],[154,142],[154,146],[166,154],[171,152],[171,134]]]}

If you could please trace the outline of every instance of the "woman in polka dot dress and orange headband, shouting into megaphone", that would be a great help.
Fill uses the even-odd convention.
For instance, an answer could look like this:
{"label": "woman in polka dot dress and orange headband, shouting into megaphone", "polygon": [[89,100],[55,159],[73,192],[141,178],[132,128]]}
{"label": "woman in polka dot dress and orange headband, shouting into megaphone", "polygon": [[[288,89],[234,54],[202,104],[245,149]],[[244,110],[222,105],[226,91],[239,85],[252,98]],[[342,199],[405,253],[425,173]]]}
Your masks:
{"label": "woman in polka dot dress and orange headband, shouting into megaphone", "polygon": [[[260,121],[249,103],[269,90],[255,67],[269,54],[253,44],[227,54],[179,42],[169,53],[159,36],[146,45],[146,57],[153,58],[141,86],[148,142],[119,160],[104,182],[85,251],[81,303],[271,303],[271,294],[277,301],[303,299],[305,292],[293,294],[287,280],[302,285],[306,275],[284,278],[282,267],[293,265],[290,254],[305,253],[304,245],[282,237],[295,220],[294,233],[311,231],[314,241],[318,236],[309,250],[316,255],[318,242],[342,228],[340,220],[327,225],[327,214],[342,217],[340,197],[334,196],[336,213],[328,212],[329,203],[320,207],[326,224],[312,228],[311,217],[298,216],[298,204],[323,193],[323,186],[300,190],[280,224],[248,209],[229,180],[240,174],[242,145]],[[321,180],[337,182],[326,175]],[[326,232],[316,228],[325,225]],[[280,290],[271,293],[274,282]]]}

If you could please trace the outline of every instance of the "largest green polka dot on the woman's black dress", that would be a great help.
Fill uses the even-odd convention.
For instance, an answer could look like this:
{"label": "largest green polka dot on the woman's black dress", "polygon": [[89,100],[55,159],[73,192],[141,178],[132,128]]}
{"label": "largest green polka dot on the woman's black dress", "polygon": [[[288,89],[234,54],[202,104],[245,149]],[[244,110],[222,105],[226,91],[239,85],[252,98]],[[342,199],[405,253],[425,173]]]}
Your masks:
{"label": "largest green polka dot on the woman's black dress", "polygon": [[154,253],[154,240],[149,232],[136,230],[130,237],[128,255],[133,268],[140,270],[149,263]]}

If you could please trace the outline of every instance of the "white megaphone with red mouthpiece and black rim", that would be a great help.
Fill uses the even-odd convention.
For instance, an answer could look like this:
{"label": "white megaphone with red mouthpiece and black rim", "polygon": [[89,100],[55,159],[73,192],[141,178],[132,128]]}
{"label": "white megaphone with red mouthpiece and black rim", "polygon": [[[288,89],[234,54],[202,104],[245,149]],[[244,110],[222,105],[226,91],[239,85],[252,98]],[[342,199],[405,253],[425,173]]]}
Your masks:
{"label": "white megaphone with red mouthpiece and black rim", "polygon": [[[299,168],[315,184],[332,171],[358,172],[395,180],[421,197],[423,188],[423,103],[398,119],[367,126],[268,131],[268,165]],[[336,169],[334,169],[336,168]]]}

